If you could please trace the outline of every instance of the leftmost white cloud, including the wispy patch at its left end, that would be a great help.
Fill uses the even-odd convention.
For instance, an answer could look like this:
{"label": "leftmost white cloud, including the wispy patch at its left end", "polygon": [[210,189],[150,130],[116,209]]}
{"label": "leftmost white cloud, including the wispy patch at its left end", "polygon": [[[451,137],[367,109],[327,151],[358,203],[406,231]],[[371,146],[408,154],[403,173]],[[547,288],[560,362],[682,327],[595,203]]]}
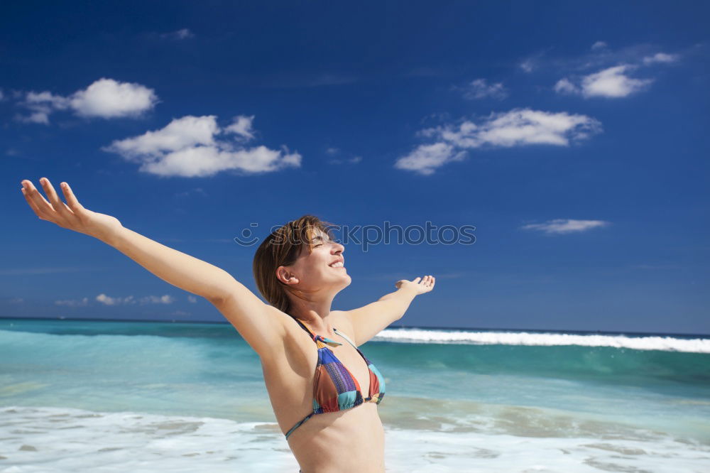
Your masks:
{"label": "leftmost white cloud, including the wispy patch at its left end", "polygon": [[47,91],[27,92],[20,105],[28,109],[30,114],[16,116],[16,119],[26,123],[49,124],[50,114],[65,109],[71,109],[75,114],[85,117],[136,117],[152,109],[157,102],[158,97],[153,89],[140,84],[102,78],[69,97]]}

